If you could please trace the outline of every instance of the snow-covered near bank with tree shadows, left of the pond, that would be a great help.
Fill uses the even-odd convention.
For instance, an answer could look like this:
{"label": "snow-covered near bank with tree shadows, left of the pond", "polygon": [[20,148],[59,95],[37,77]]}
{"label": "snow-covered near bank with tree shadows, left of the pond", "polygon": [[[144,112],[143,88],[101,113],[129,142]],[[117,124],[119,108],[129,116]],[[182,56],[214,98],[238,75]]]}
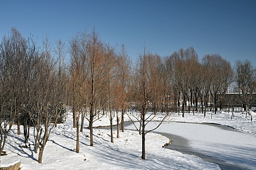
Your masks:
{"label": "snow-covered near bank with tree shadows, left of the pond", "polygon": [[[108,125],[109,120],[107,120],[106,117],[101,121],[97,120],[94,126]],[[197,156],[162,148],[165,143],[169,142],[169,139],[159,134],[146,135],[147,159],[142,160],[140,157],[141,136],[137,132],[120,132],[120,138],[114,138],[114,143],[110,142],[109,130],[94,129],[93,133],[94,147],[89,146],[89,131],[84,129],[84,133],[80,133],[80,153],[75,153],[76,129],[72,128],[72,119],[69,116],[65,123],[58,124],[57,128],[53,129],[43,152],[43,164],[39,164],[37,163],[38,153],[34,153],[33,145],[31,148],[20,147],[24,145],[23,136],[17,135],[17,126],[14,125],[4,148],[7,155],[1,156],[0,164],[20,160],[21,170],[219,169],[218,165],[204,161]],[[116,136],[115,130],[114,136]],[[30,131],[30,144],[33,144],[32,140],[33,129]]]}

